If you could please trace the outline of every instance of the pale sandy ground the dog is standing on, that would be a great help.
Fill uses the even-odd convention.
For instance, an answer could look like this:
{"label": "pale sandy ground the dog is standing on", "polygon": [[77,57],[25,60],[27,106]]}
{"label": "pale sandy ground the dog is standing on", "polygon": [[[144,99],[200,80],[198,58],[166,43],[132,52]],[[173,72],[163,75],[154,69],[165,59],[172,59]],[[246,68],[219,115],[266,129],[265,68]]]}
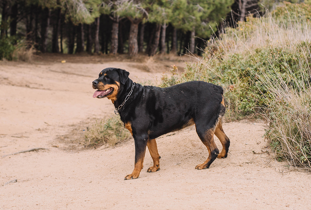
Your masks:
{"label": "pale sandy ground the dog is standing on", "polygon": [[[72,146],[74,128],[113,113],[110,100],[92,98],[91,82],[103,68],[156,83],[172,64],[183,66],[54,55],[0,62],[0,209],[310,209],[311,175],[266,153],[258,121],[225,123],[229,155],[206,170],[194,169],[207,158],[194,127],[164,135],[157,139],[161,170],[146,172],[153,165],[147,150],[136,180],[123,180],[134,167],[133,139],[116,147]],[[47,150],[10,155],[36,147]]]}

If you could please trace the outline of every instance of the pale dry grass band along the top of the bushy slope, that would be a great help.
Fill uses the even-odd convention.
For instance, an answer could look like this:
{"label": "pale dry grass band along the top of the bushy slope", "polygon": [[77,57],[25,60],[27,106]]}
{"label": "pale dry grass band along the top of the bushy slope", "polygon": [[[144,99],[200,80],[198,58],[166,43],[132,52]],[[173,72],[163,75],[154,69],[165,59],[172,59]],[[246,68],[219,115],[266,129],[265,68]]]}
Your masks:
{"label": "pale dry grass band along the top of the bushy slope", "polygon": [[[287,18],[288,19],[288,18]],[[210,55],[224,58],[232,54],[253,53],[257,48],[273,45],[276,47],[295,50],[296,45],[311,40],[311,24],[304,14],[284,21],[266,11],[261,18],[247,17],[246,22],[239,22],[239,27],[228,27],[226,34],[221,35],[221,41],[212,39],[207,43]]]}

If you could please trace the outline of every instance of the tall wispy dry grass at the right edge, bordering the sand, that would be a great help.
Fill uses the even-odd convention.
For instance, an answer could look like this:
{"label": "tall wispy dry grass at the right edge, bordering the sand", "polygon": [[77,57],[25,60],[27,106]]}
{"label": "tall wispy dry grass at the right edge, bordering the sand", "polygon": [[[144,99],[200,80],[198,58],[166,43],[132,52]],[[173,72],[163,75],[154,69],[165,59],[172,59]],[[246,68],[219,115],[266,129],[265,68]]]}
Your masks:
{"label": "tall wispy dry grass at the right edge, bordering the sand", "polygon": [[[264,74],[259,85],[269,90],[265,94],[268,102],[264,114],[268,122],[265,137],[275,157],[289,161],[294,167],[310,170],[311,70],[307,61],[301,64],[298,77],[292,69],[286,75],[269,72],[274,77]],[[292,78],[292,82],[284,82],[284,76]]]}

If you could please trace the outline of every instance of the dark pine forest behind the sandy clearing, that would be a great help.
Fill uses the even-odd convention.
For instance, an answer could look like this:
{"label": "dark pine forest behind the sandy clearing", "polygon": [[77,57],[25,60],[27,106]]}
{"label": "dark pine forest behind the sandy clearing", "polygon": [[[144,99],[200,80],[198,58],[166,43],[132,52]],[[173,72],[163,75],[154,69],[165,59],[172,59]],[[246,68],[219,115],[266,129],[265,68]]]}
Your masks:
{"label": "dark pine forest behind the sandy clearing", "polygon": [[16,47],[65,54],[202,54],[211,35],[247,14],[262,15],[262,3],[272,7],[258,0],[1,0],[0,59],[12,60]]}

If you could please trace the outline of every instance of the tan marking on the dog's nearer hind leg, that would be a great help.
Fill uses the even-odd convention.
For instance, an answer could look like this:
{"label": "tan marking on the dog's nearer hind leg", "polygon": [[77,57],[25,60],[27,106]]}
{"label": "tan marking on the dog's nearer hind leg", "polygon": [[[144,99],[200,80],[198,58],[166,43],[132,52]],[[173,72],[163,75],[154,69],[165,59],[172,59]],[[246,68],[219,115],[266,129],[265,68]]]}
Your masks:
{"label": "tan marking on the dog's nearer hind leg", "polygon": [[215,150],[218,151],[218,148],[215,144],[214,141],[214,132],[213,129],[210,129],[206,132],[205,138],[202,140],[202,143],[207,147],[208,150],[208,158],[206,159],[206,161],[202,164],[198,164],[195,168],[198,170],[201,169],[205,169],[205,168],[209,168],[209,166],[211,165],[211,163],[215,160],[215,156],[213,156],[213,154],[211,154],[211,152],[214,152]]}

